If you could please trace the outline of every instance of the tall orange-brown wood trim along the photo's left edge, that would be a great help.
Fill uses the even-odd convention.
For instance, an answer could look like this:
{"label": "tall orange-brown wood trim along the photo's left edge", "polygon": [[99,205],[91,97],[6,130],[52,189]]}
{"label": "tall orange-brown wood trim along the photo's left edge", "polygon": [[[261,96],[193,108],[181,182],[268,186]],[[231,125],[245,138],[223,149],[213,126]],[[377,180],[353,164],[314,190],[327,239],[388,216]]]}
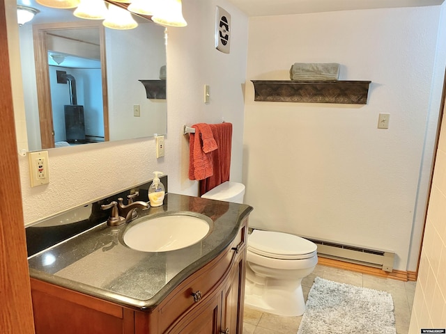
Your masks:
{"label": "tall orange-brown wood trim along the photo's left edge", "polygon": [[0,143],[3,180],[0,193],[1,333],[34,332],[28,261],[26,260],[22,192],[15,136],[13,93],[9,67],[6,4],[0,0]]}

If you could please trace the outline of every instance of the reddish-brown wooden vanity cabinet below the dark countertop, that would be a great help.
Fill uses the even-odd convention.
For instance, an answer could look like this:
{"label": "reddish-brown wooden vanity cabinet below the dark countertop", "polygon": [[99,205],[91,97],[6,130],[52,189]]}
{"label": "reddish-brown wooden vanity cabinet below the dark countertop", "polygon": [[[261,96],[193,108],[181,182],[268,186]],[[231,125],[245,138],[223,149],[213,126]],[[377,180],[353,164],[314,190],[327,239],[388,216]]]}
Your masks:
{"label": "reddish-brown wooden vanity cabinet below the dark countertop", "polygon": [[151,312],[31,278],[36,334],[242,334],[246,240],[247,219],[230,246]]}

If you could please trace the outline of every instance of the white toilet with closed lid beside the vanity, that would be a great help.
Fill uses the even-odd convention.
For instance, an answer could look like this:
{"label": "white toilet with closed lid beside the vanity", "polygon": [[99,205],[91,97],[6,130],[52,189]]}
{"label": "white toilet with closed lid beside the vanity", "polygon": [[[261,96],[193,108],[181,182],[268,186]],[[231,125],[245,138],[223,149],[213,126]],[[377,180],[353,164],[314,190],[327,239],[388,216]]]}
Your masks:
{"label": "white toilet with closed lid beside the vanity", "polygon": [[[243,203],[245,186],[224,182],[202,198]],[[245,305],[295,317],[305,311],[302,278],[318,263],[317,246],[293,234],[253,230],[248,236]]]}

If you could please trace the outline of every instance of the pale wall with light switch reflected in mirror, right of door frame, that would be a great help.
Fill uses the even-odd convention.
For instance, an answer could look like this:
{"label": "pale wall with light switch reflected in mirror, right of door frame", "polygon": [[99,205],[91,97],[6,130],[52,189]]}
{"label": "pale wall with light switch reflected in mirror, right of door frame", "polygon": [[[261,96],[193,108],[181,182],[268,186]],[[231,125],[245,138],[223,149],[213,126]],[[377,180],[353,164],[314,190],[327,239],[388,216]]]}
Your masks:
{"label": "pale wall with light switch reflected in mirror, right of door frame", "polygon": [[[139,24],[136,29],[106,29],[107,89],[109,93],[110,140],[150,134],[166,134],[166,100],[150,100],[140,79],[159,79],[160,67],[166,65],[164,28],[157,24]],[[131,57],[129,57],[129,51]],[[133,116],[139,104],[140,117]]]}

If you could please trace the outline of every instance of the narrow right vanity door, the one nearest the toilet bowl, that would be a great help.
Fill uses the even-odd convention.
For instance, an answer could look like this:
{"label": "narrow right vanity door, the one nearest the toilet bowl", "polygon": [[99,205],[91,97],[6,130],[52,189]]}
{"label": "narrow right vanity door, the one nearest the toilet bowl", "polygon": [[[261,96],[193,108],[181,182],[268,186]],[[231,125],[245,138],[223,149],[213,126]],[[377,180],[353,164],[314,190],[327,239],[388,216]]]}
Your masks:
{"label": "narrow right vanity door, the one nearest the toilet bowl", "polygon": [[[222,331],[243,333],[243,299],[245,298],[245,248],[233,264],[229,281],[223,290]],[[227,331],[229,330],[229,332]]]}

